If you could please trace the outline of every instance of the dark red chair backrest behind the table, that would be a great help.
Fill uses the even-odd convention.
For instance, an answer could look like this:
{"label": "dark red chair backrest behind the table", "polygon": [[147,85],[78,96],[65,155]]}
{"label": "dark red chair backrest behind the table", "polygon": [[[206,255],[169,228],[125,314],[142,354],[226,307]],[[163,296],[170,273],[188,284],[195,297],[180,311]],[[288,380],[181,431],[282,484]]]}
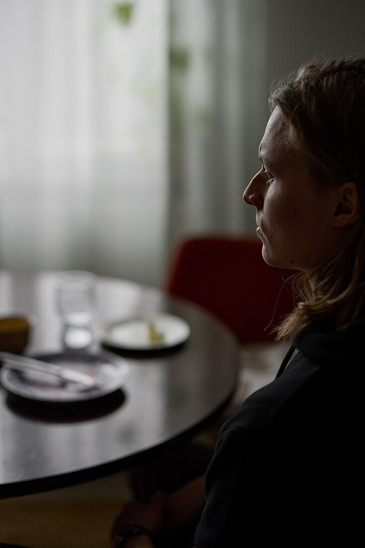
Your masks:
{"label": "dark red chair backrest behind the table", "polygon": [[295,271],[269,266],[261,250],[257,237],[188,238],[174,250],[165,289],[212,312],[242,344],[271,342],[273,327],[294,309],[285,281]]}

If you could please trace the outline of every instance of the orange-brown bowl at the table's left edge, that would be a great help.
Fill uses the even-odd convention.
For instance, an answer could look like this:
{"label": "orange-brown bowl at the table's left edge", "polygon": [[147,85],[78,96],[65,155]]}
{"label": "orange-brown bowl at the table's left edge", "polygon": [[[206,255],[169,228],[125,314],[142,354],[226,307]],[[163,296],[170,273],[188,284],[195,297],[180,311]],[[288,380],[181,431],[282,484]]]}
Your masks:
{"label": "orange-brown bowl at the table's left edge", "polygon": [[0,350],[21,354],[28,344],[34,316],[14,315],[0,317]]}

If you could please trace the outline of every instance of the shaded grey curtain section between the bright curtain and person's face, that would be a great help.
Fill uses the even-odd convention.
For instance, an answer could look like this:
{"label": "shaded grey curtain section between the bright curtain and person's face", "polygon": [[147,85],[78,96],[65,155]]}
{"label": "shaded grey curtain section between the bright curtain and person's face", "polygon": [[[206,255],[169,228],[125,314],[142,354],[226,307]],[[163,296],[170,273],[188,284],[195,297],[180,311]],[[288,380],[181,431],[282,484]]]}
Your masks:
{"label": "shaded grey curtain section between the bright curtain and person's face", "polygon": [[256,229],[242,194],[268,118],[265,8],[171,0],[170,242]]}

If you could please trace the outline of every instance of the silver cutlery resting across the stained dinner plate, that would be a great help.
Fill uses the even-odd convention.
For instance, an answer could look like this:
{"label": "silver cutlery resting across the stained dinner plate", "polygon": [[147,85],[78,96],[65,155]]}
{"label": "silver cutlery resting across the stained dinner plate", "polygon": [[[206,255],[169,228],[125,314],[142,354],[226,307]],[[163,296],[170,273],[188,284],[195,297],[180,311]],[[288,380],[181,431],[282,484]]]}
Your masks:
{"label": "silver cutlery resting across the stained dinner plate", "polygon": [[57,366],[53,363],[42,362],[40,359],[10,354],[9,352],[0,352],[0,361],[9,369],[22,373],[36,373],[38,380],[42,380],[42,375],[47,374],[55,376],[62,384],[76,383],[80,385],[78,387],[79,390],[91,390],[103,386],[101,381],[94,379],[91,375],[63,366]]}

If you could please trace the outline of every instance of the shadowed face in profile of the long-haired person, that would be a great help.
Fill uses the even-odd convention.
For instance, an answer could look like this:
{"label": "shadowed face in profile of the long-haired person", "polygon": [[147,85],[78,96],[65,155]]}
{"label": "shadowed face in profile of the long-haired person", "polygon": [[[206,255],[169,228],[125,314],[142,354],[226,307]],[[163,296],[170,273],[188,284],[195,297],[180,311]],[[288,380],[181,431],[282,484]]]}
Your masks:
{"label": "shadowed face in profile of the long-haired person", "polygon": [[331,193],[316,189],[304,162],[285,144],[285,122],[278,107],[259,146],[262,169],[244,193],[256,207],[262,255],[271,266],[309,270],[334,250]]}

